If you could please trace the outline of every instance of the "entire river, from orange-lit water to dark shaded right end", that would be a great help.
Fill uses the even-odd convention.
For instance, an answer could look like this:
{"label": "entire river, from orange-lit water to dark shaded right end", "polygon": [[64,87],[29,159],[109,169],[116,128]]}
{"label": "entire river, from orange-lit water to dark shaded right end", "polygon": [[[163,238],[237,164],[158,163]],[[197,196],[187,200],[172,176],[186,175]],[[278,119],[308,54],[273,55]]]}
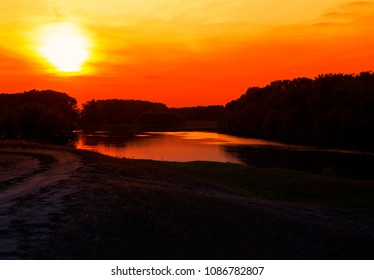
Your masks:
{"label": "entire river, from orange-lit water to dark shaded right end", "polygon": [[325,176],[374,179],[372,153],[296,146],[215,132],[81,132],[76,147],[129,159],[216,161],[285,168]]}

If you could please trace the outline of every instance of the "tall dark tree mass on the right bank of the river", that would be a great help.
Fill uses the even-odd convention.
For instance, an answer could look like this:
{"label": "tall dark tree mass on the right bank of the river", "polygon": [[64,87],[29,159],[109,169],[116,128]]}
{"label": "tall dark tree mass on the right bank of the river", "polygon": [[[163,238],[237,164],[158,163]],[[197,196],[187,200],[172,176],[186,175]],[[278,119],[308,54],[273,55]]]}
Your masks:
{"label": "tall dark tree mass on the right bank of the river", "polygon": [[328,74],[253,87],[229,102],[224,133],[329,147],[373,150],[374,74]]}

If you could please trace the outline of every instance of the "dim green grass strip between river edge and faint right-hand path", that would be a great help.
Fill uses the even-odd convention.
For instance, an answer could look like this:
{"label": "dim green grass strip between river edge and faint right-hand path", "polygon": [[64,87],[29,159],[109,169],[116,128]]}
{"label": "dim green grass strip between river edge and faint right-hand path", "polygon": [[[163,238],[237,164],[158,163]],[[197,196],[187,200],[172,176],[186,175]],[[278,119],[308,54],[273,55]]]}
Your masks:
{"label": "dim green grass strip between river edge and faint right-hand path", "polygon": [[261,199],[357,209],[374,207],[373,181],[335,178],[280,168],[255,168],[234,163],[149,163]]}

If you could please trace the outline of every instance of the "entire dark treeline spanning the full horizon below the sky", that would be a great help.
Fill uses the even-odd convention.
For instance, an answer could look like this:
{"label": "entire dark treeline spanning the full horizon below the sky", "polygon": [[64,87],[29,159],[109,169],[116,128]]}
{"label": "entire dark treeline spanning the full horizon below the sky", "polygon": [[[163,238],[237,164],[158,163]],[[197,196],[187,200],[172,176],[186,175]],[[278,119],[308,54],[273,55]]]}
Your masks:
{"label": "entire dark treeline spanning the full horizon below the sky", "polygon": [[64,142],[74,129],[106,125],[182,127],[218,121],[219,132],[296,144],[373,150],[374,74],[328,74],[251,87],[223,106],[168,108],[140,100],[90,100],[66,93],[0,94],[0,138]]}

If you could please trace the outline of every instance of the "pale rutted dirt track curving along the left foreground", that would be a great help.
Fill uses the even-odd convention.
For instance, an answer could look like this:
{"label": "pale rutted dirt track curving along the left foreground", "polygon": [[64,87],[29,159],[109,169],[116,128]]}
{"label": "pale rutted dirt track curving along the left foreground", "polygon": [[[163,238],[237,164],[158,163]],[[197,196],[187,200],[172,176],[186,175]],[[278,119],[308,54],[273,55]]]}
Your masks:
{"label": "pale rutted dirt track curving along the left foreground", "polygon": [[0,160],[0,257],[13,259],[30,242],[48,238],[63,197],[75,191],[67,182],[82,163],[51,149],[0,148]]}

